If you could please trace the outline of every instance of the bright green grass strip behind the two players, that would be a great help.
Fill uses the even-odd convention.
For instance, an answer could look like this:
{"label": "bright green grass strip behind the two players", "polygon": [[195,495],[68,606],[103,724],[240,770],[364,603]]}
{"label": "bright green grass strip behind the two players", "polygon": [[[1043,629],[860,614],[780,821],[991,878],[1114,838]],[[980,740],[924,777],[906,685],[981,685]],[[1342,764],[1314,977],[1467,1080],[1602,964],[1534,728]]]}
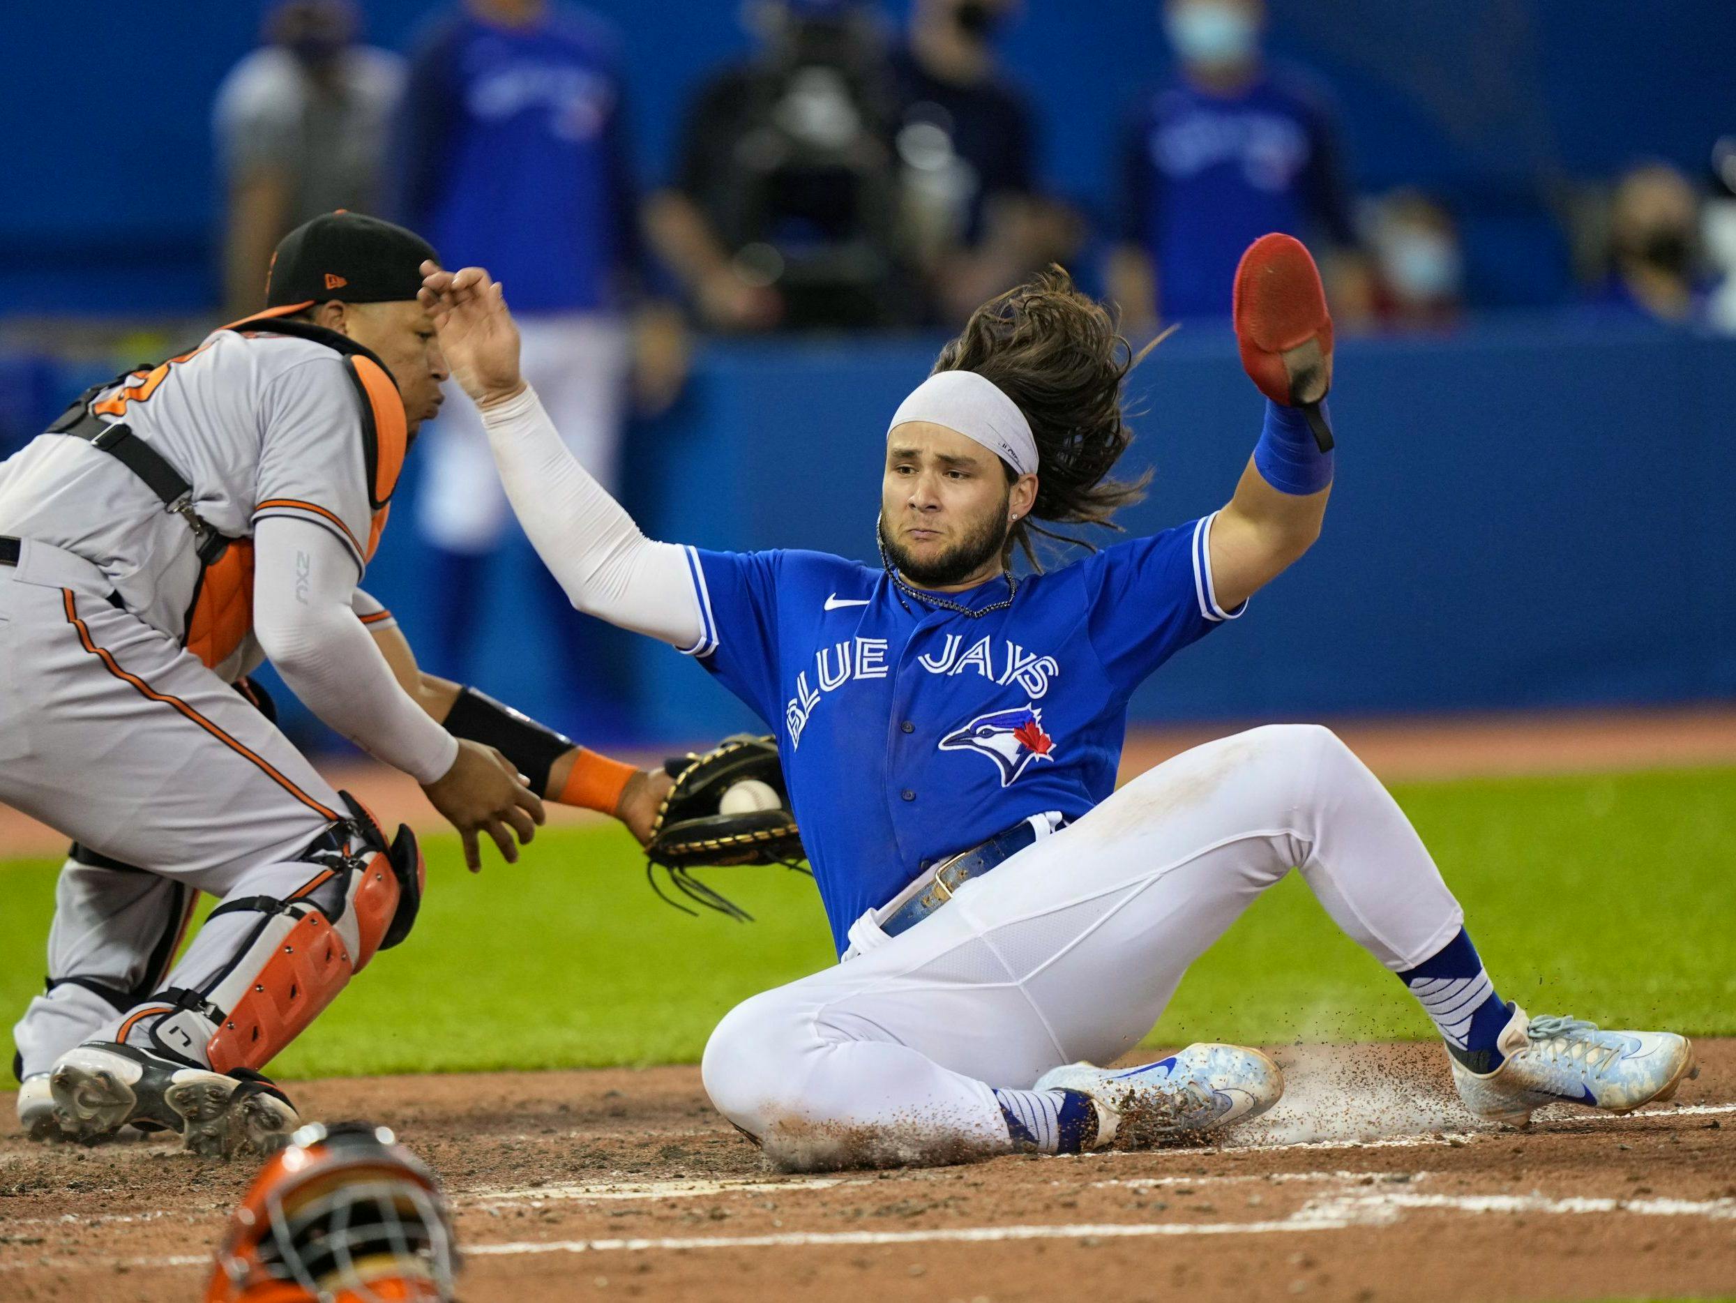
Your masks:
{"label": "bright green grass strip behind the two players", "polygon": [[[1736,769],[1397,796],[1509,999],[1606,1025],[1736,1032]],[[759,918],[738,925],[660,904],[613,828],[543,833],[526,862],[481,876],[464,871],[455,838],[429,838],[427,857],[415,935],[373,961],[279,1074],[693,1062],[736,1001],[832,963],[812,883],[783,869],[708,874]],[[7,1017],[40,989],[54,869],[0,866]],[[1194,965],[1153,1039],[1429,1034],[1292,874]]]}

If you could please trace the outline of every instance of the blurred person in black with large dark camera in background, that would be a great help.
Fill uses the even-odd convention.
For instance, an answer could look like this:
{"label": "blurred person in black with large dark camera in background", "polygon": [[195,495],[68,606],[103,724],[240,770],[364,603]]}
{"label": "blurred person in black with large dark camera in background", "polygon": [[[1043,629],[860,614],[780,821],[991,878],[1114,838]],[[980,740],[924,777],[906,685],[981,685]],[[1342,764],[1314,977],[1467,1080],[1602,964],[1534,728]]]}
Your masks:
{"label": "blurred person in black with large dark camera in background", "polygon": [[651,206],[658,253],[713,330],[915,324],[898,85],[875,14],[759,0],[748,19],[760,49],[687,106],[674,184]]}

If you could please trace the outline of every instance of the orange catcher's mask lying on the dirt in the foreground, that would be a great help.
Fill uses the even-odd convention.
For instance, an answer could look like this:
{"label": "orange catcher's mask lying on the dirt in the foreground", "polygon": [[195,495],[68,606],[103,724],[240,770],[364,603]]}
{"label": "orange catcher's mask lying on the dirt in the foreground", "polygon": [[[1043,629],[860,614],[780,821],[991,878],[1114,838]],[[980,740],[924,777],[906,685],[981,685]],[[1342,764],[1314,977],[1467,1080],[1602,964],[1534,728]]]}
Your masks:
{"label": "orange catcher's mask lying on the dirt in the foreground", "polygon": [[266,1162],[217,1249],[207,1303],[453,1298],[439,1183],[384,1126],[304,1126]]}

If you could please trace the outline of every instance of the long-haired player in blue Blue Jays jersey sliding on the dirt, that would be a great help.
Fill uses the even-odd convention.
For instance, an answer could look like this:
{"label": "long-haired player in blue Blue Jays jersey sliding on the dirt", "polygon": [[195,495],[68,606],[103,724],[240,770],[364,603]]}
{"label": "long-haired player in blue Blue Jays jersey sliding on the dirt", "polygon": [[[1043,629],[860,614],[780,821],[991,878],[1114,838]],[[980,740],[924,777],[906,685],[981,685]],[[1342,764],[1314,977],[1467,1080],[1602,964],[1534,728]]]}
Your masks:
{"label": "long-haired player in blue Blue Jays jersey sliding on the dirt", "polygon": [[1139,1147],[1269,1109],[1283,1079],[1257,1050],[1092,1064],[1130,1050],[1292,868],[1422,1003],[1479,1117],[1625,1112],[1691,1071],[1680,1036],[1502,999],[1417,833],[1326,729],[1255,729],[1113,789],[1134,687],[1321,527],[1332,324],[1295,241],[1264,238],[1238,274],[1271,401],[1229,503],[1028,578],[1014,547],[1108,524],[1137,493],[1109,479],[1132,437],[1127,345],[1059,269],[983,305],[892,415],[878,569],[644,538],[524,385],[500,285],[425,272],[512,507],[573,602],[696,656],[778,734],[844,961],[733,1010],[703,1064],[773,1161]]}

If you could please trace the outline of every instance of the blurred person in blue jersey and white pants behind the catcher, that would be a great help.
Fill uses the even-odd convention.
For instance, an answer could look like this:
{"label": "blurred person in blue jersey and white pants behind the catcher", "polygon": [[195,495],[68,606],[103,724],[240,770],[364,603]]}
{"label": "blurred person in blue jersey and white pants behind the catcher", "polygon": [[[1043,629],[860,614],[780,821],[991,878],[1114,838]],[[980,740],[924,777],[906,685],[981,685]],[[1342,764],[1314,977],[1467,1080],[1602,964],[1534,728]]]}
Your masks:
{"label": "blurred person in blue jersey and white pants behind the catcher", "polygon": [[[630,397],[648,413],[667,408],[686,352],[679,314],[646,290],[613,31],[547,0],[465,0],[411,57],[394,158],[399,219],[451,259],[503,269],[526,373],[585,468],[618,484]],[[462,599],[483,592],[510,512],[469,403],[432,427],[425,456],[418,526],[455,599],[441,607],[436,659],[464,677],[477,621]],[[608,645],[613,635],[536,571],[571,637]],[[608,656],[589,661],[583,682],[562,677],[571,724],[618,730],[621,685],[608,682]]]}

